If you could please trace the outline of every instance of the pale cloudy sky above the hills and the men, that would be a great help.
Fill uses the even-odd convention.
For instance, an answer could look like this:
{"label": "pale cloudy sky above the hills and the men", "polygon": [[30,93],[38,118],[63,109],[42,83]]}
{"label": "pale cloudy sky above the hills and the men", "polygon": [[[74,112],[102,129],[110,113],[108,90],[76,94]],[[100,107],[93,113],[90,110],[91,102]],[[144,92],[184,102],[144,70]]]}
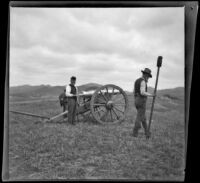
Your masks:
{"label": "pale cloudy sky above the hills and the men", "polygon": [[132,91],[163,57],[158,89],[184,86],[184,8],[19,8],[10,14],[10,86],[115,84]]}

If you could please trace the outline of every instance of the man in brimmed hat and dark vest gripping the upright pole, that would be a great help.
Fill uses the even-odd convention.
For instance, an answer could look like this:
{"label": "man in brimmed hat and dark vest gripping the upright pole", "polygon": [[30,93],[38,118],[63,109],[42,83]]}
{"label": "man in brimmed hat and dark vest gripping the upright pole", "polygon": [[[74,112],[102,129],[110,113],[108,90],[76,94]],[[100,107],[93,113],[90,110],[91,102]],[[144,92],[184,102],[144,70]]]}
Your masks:
{"label": "man in brimmed hat and dark vest gripping the upright pole", "polygon": [[147,97],[154,97],[154,95],[147,92],[147,82],[149,78],[152,78],[151,70],[149,68],[145,68],[142,70],[142,77],[138,78],[134,84],[135,107],[137,109],[137,117],[133,128],[134,137],[138,136],[141,123],[145,131],[145,136],[147,138],[150,137],[150,133],[147,129],[145,112]]}

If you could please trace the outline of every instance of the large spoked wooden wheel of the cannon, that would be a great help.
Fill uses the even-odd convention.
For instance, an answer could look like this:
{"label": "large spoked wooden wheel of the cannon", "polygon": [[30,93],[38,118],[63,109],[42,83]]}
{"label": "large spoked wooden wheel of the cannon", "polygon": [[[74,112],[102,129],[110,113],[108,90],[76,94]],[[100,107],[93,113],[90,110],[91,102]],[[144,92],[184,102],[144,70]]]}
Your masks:
{"label": "large spoked wooden wheel of the cannon", "polygon": [[90,110],[101,124],[116,124],[125,119],[128,109],[126,93],[113,84],[98,88],[92,95]]}

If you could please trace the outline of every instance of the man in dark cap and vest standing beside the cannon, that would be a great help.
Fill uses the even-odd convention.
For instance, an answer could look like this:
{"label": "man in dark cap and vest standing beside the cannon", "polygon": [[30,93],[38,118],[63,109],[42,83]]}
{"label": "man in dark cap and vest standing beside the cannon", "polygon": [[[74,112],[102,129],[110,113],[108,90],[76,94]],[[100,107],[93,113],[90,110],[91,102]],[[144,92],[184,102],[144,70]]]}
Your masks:
{"label": "man in dark cap and vest standing beside the cannon", "polygon": [[75,86],[76,77],[72,76],[70,80],[70,84],[66,86],[65,95],[68,99],[68,122],[71,124],[75,123],[76,117],[76,107],[77,107],[77,96],[78,96],[78,88]]}

